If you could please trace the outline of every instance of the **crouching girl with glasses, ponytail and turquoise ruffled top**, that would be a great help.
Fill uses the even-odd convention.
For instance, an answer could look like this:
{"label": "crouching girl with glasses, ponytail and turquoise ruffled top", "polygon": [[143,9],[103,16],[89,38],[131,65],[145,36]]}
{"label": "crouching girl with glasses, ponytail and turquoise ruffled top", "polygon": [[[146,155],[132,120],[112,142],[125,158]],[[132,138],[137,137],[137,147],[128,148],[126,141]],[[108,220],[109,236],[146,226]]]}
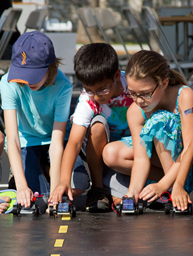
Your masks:
{"label": "crouching girl with glasses, ponytail and turquoise ruffled top", "polygon": [[[116,172],[131,175],[130,185],[128,176],[121,182],[122,196],[152,202],[172,187],[193,138],[193,114],[184,114],[193,106],[193,91],[185,86],[181,74],[171,70],[167,60],[154,51],[134,54],[127,63],[126,79],[126,95],[134,100],[127,111],[132,137],[106,145],[104,162]],[[147,185],[148,178],[159,182]],[[190,193],[192,172],[184,183]]]}

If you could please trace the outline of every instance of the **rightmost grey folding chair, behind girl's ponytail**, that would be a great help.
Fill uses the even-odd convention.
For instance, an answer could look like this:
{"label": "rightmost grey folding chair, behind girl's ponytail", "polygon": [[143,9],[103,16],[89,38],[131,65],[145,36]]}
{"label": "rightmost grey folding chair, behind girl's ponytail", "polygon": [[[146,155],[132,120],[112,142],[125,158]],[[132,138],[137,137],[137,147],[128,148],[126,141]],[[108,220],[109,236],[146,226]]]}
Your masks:
{"label": "rightmost grey folding chair, behind girl's ponytail", "polygon": [[[188,84],[187,81],[189,80],[191,73],[189,73],[186,78],[183,70],[185,70],[187,72],[188,69],[192,69],[193,62],[192,61],[179,61],[178,62],[177,58],[175,57],[175,54],[173,53],[172,48],[170,47],[170,44],[167,41],[167,38],[165,38],[165,34],[162,31],[161,24],[159,23],[158,16],[154,9],[151,9],[148,6],[143,6],[142,12],[145,16],[146,22],[149,25],[149,31],[151,31],[153,33],[153,36],[156,39],[157,44],[159,45],[160,49],[162,50],[165,58],[168,59],[168,62],[170,63],[170,67],[172,69],[176,69],[176,70],[180,71],[180,73],[182,74],[182,76],[184,78],[184,81]],[[159,32],[159,35],[161,36],[161,38],[164,41],[164,44],[162,44],[161,40],[157,36],[156,31]],[[170,59],[170,57],[172,57],[172,60]],[[191,86],[192,84],[193,84],[193,82],[191,82],[189,84],[189,86]]]}

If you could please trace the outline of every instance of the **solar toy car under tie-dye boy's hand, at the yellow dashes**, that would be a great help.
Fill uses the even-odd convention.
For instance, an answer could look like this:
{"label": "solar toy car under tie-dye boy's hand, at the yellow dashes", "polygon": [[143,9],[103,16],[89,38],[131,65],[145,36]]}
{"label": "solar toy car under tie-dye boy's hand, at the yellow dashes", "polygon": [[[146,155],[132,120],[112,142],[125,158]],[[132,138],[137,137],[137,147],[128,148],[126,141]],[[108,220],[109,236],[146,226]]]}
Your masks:
{"label": "solar toy car under tie-dye boy's hand, at the yellow dashes", "polygon": [[62,202],[56,205],[56,209],[50,206],[50,216],[56,217],[56,215],[70,214],[72,217],[76,217],[76,207],[72,205],[68,196],[62,197]]}

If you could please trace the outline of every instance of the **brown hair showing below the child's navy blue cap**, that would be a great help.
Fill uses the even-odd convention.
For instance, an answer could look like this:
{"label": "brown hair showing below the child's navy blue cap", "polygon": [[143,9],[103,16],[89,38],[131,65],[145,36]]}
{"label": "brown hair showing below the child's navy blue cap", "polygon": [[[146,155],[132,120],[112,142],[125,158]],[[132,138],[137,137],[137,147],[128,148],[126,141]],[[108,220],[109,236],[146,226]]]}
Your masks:
{"label": "brown hair showing below the child's navy blue cap", "polygon": [[[53,63],[51,63],[50,66],[48,66],[48,78],[47,81],[45,81],[44,86],[51,86],[55,82],[55,78],[58,74],[58,66],[61,63],[62,58],[56,58]],[[26,86],[26,84],[23,84],[22,82],[18,82],[20,86]]]}

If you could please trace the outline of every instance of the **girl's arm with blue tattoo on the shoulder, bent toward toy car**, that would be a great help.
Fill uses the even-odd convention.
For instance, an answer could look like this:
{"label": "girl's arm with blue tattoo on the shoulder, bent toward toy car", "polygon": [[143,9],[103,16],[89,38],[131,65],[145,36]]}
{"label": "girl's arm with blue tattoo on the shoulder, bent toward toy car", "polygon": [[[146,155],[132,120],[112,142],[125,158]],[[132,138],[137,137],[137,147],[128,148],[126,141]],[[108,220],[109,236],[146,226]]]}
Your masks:
{"label": "girl's arm with blue tattoo on the shoulder, bent toward toy car", "polygon": [[[193,133],[192,133],[193,113],[187,114],[187,116],[184,114],[185,110],[187,110],[190,106],[193,106],[193,90],[192,89],[187,87],[181,91],[178,106],[179,106],[178,108],[180,111],[180,119],[181,119],[183,151],[176,159],[176,162],[172,164],[172,167],[168,170],[167,174],[165,174],[164,177],[158,183],[150,184],[143,189],[142,193],[140,194],[140,198],[143,198],[144,200],[146,200],[153,196],[153,198],[149,199],[148,202],[151,202],[154,199],[159,198],[159,194],[162,193],[162,191],[167,191],[168,189],[170,189],[173,183],[175,182],[177,175],[180,175],[180,178],[178,178],[178,180],[180,180],[181,184],[184,184],[186,182],[187,174],[190,170],[189,167],[191,167],[191,161],[192,161],[191,156],[186,158],[187,161],[189,161],[189,163],[186,163],[186,167],[184,166],[185,162],[183,161],[183,167],[182,167],[180,164],[180,161],[181,161],[181,158],[183,157],[184,152],[186,152],[187,148],[189,147],[190,142],[193,140]],[[179,168],[180,168],[180,172],[178,174]],[[179,197],[181,197],[181,192],[180,191],[176,192],[176,200],[178,201],[177,194]]]}

